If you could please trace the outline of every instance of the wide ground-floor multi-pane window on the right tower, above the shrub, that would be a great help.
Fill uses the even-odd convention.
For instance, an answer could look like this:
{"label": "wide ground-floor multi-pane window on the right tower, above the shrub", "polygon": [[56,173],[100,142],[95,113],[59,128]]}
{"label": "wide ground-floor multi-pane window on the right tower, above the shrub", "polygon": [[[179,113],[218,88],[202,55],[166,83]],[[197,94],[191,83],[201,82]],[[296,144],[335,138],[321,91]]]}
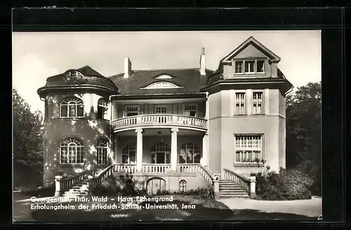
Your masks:
{"label": "wide ground-floor multi-pane window on the right tower, above the shrub", "polygon": [[[237,161],[237,151],[251,151],[251,157],[253,156],[253,151],[257,151],[254,147],[249,147],[245,149],[237,148],[237,137],[260,137],[260,162],[255,161],[256,158],[252,158],[251,161]],[[252,143],[252,142],[251,142]],[[249,149],[249,150],[248,150]],[[265,163],[265,135],[263,133],[234,133],[234,165],[264,165]],[[245,154],[245,153],[244,153]],[[263,161],[263,162],[262,162]]]}

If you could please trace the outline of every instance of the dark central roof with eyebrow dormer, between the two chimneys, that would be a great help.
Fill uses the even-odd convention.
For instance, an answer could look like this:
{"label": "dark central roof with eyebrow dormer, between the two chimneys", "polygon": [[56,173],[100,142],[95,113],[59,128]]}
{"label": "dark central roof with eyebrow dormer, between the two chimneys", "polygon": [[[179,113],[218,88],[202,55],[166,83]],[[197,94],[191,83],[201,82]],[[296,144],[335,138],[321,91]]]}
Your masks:
{"label": "dark central roof with eyebrow dormer, between the two chimneys", "polygon": [[[206,86],[208,75],[212,70],[206,69],[206,76],[201,76],[198,68],[192,69],[153,69],[133,70],[128,78],[124,74],[110,76],[121,95],[163,94],[163,93],[199,93]],[[157,79],[158,76],[168,75],[171,78]],[[167,81],[180,88],[152,88],[145,89],[152,83]]]}

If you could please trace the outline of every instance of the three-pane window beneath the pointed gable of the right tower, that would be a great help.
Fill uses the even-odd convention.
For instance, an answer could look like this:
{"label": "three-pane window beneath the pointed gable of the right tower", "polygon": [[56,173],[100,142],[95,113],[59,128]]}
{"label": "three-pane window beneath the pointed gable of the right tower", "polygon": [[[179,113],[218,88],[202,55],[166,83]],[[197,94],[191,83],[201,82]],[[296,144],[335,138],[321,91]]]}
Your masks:
{"label": "three-pane window beneath the pointed gable of the right tower", "polygon": [[265,60],[236,60],[235,74],[264,74]]}

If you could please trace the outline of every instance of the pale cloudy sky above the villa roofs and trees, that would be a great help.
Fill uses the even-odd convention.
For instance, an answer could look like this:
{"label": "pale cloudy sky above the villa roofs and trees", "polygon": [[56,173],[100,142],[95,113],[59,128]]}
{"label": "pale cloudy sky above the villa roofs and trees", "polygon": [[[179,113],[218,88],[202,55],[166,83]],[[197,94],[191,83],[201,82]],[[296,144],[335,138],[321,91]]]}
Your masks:
{"label": "pale cloudy sky above the villa roofs and trees", "polygon": [[206,69],[253,36],[281,58],[278,63],[294,87],[322,81],[320,30],[211,32],[14,32],[13,88],[32,111],[44,111],[37,89],[46,78],[89,65],[103,76],[133,70],[198,68],[205,49]]}

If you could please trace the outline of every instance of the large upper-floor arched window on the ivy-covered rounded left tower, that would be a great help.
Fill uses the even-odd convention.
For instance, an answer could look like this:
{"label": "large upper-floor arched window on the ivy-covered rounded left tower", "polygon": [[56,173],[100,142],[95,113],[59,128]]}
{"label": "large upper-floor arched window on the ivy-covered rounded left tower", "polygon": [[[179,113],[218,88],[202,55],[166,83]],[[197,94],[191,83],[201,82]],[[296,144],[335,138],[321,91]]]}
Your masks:
{"label": "large upper-floor arched window on the ivy-covered rounded left tower", "polygon": [[83,117],[84,103],[77,97],[67,97],[60,104],[60,117]]}

